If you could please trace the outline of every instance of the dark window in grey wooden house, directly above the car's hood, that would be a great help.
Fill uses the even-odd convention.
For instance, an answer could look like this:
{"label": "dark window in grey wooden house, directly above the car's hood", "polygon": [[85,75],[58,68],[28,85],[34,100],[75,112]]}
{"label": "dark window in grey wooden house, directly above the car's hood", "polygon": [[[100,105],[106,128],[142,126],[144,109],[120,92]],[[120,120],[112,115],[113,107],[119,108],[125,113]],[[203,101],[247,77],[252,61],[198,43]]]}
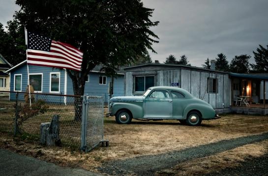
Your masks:
{"label": "dark window in grey wooden house, directly above the car's hood", "polygon": [[135,92],[145,92],[154,86],[154,76],[135,76]]}

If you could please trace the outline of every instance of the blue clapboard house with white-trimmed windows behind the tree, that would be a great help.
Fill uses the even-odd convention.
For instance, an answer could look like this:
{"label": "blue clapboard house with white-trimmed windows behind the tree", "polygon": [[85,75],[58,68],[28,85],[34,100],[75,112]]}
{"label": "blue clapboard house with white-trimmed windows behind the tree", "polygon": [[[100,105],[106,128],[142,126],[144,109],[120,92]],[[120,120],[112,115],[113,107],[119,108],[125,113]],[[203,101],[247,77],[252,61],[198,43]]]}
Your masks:
{"label": "blue clapboard house with white-trimmed windows behind the tree", "polygon": [[[124,73],[118,71],[112,79],[100,72],[100,69],[101,67],[97,66],[89,73],[85,84],[85,95],[104,96],[104,101],[107,103],[109,83],[113,82],[112,96],[123,96]],[[23,61],[5,72],[10,73],[10,91],[26,92],[28,85],[27,61]],[[65,69],[29,65],[29,80],[36,93],[74,95],[72,79]],[[41,97],[41,95],[38,96]],[[10,96],[10,99],[15,99],[15,96]],[[23,96],[20,96],[20,99],[23,99]],[[55,96],[46,101],[66,103],[66,99],[55,98]]]}

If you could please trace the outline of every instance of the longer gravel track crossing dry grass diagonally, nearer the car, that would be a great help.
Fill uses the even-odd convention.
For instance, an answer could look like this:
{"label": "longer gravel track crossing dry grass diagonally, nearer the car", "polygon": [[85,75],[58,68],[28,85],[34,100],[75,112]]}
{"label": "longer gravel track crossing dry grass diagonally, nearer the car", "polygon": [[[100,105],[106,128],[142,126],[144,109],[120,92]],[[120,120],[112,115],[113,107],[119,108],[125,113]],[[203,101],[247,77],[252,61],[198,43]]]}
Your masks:
{"label": "longer gravel track crossing dry grass diagonally, nearer the car", "polygon": [[231,140],[223,140],[179,151],[170,151],[157,155],[138,156],[125,160],[103,163],[98,170],[110,175],[134,174],[139,176],[154,175],[156,171],[171,168],[180,162],[214,155],[249,143],[268,139],[268,133],[252,135]]}

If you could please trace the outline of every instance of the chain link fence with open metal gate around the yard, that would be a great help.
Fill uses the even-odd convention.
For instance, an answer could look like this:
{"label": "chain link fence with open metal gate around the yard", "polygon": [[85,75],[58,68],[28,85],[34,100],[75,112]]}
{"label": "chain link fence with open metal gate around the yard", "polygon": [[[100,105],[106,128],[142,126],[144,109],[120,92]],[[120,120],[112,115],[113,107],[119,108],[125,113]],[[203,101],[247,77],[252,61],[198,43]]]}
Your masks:
{"label": "chain link fence with open metal gate around the yard", "polygon": [[[0,92],[0,132],[19,133],[39,139],[40,124],[51,122],[53,115],[57,114],[60,116],[62,145],[78,148],[82,140],[83,97],[31,93],[29,99],[28,93]],[[87,124],[91,131],[87,134],[89,140],[87,143],[91,146],[91,143],[96,143],[96,139],[100,139],[99,131],[103,130],[103,97],[87,97],[87,101],[89,102]],[[103,132],[101,135],[103,137]]]}

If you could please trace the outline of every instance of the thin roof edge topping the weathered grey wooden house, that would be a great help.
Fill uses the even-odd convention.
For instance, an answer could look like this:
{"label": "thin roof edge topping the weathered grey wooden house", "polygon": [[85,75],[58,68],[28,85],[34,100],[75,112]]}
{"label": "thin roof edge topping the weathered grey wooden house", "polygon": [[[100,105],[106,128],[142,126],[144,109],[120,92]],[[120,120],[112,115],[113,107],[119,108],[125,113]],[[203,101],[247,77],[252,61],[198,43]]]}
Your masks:
{"label": "thin roof edge topping the weathered grey wooden house", "polygon": [[123,70],[129,70],[129,69],[133,69],[133,68],[139,68],[139,67],[148,67],[148,66],[152,66],[152,67],[174,67],[174,68],[189,68],[189,69],[196,69],[196,70],[206,70],[206,71],[213,71],[213,72],[220,72],[220,73],[228,73],[228,72],[224,72],[224,71],[219,71],[219,70],[210,70],[210,69],[204,69],[204,68],[200,68],[200,67],[193,67],[193,66],[184,66],[184,65],[175,65],[175,64],[142,64],[142,65],[137,65],[137,66],[131,66],[131,67],[125,67],[122,68]]}

